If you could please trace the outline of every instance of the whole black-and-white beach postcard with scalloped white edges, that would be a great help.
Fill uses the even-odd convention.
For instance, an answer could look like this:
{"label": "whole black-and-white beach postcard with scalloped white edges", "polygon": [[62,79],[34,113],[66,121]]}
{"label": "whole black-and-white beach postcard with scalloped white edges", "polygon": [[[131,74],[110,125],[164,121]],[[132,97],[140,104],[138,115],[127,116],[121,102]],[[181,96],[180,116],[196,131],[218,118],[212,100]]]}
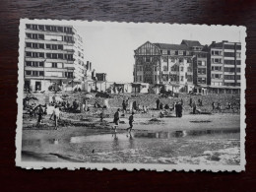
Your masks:
{"label": "whole black-and-white beach postcard with scalloped white edges", "polygon": [[16,165],[245,169],[246,28],[20,20]]}

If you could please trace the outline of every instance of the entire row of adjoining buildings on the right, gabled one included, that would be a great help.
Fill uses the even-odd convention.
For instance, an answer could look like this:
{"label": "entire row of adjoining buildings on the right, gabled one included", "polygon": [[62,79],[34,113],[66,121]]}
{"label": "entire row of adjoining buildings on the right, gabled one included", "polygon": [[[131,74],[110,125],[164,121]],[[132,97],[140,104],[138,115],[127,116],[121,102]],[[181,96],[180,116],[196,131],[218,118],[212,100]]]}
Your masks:
{"label": "entire row of adjoining buildings on the right, gabled one included", "polygon": [[172,92],[239,93],[239,42],[202,45],[197,40],[180,44],[147,41],[134,51],[134,82],[164,85]]}

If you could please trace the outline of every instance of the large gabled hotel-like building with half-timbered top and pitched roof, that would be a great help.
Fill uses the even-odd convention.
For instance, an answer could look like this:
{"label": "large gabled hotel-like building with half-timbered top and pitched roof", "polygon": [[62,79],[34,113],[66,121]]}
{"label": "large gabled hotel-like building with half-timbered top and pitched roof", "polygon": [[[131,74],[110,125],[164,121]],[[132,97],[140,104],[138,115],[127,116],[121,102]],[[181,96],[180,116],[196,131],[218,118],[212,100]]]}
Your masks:
{"label": "large gabled hotel-like building with half-timbered top and pitched roof", "polygon": [[146,42],[135,51],[134,82],[188,92],[193,84],[192,52],[185,44]]}

